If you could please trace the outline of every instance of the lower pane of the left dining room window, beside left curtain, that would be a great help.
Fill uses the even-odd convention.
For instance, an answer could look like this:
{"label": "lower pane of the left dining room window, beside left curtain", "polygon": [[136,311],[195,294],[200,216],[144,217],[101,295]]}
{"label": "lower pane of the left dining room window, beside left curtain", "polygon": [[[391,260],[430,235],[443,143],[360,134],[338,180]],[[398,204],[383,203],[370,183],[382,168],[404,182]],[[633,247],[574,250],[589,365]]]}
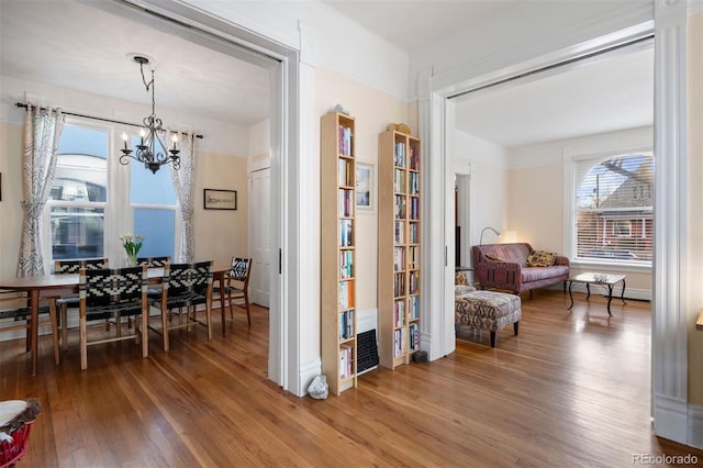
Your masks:
{"label": "lower pane of the left dining room window, beside left curtain", "polygon": [[51,226],[55,260],[104,256],[104,210],[52,207]]}

